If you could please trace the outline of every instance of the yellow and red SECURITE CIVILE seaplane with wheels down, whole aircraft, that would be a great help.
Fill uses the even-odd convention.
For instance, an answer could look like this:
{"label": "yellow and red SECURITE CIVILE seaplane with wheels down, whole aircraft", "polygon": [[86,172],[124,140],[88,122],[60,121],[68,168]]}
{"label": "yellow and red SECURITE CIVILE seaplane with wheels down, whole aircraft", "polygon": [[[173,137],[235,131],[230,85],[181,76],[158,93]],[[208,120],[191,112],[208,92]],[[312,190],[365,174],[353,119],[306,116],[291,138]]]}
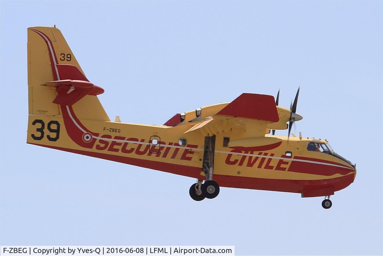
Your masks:
{"label": "yellow and red SECURITE CIVILE seaplane with wheels down, whole aircraft", "polygon": [[[60,30],[28,28],[27,143],[196,179],[193,200],[219,187],[325,197],[352,182],[355,165],[327,140],[290,136],[299,89],[290,109],[263,94],[175,114],[164,125],[112,122]],[[288,130],[277,136],[275,130]],[[272,132],[271,132],[272,131]],[[271,132],[271,134],[270,134]]]}

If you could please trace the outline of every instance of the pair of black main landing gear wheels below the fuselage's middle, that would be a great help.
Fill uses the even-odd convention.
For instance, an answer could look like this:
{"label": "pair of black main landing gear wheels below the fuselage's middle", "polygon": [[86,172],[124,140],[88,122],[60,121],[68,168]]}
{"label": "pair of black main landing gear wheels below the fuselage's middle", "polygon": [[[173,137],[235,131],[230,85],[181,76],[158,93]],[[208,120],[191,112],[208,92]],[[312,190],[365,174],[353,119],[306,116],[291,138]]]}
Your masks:
{"label": "pair of black main landing gear wheels below the fuselage's middle", "polygon": [[219,194],[219,185],[214,180],[198,180],[197,183],[191,185],[189,189],[190,197],[195,201],[201,201],[205,198],[213,199]]}

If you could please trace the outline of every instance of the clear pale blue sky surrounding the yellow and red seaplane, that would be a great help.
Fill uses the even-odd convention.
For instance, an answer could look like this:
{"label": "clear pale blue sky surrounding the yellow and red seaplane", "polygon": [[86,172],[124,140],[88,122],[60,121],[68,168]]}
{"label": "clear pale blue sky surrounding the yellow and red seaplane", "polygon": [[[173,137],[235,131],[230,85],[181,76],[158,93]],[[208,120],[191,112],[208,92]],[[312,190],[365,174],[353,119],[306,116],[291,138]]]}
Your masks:
{"label": "clear pale blue sky surrounding the yellow and red seaplane", "polygon": [[[382,254],[382,3],[1,1],[0,244]],[[301,86],[293,132],[329,140],[357,164],[355,182],[330,210],[234,188],[195,202],[193,178],[27,145],[26,28],[54,24],[111,119],[163,124],[279,88],[289,107]]]}

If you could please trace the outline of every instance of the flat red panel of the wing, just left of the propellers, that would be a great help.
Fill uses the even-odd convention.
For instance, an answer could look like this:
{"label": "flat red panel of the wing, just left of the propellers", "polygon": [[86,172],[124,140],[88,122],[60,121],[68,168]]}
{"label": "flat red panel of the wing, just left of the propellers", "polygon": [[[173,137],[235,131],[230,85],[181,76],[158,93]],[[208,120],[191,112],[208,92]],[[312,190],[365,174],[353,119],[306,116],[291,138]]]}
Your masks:
{"label": "flat red panel of the wing, just left of the propellers", "polygon": [[265,94],[242,93],[218,115],[278,122],[279,116],[274,97]]}

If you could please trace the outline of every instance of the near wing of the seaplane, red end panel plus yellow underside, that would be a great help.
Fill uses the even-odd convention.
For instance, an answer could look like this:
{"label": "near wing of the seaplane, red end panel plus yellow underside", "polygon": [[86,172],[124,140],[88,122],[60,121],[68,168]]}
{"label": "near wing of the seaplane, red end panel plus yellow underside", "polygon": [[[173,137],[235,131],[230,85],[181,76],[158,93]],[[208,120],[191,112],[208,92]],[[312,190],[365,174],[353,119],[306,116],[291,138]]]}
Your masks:
{"label": "near wing of the seaplane, red end panel plus yellow underside", "polygon": [[266,126],[278,121],[273,96],[243,93],[217,114],[198,122],[185,133],[200,130],[205,136],[211,136],[236,126],[233,129],[246,131],[246,137],[264,137]]}

